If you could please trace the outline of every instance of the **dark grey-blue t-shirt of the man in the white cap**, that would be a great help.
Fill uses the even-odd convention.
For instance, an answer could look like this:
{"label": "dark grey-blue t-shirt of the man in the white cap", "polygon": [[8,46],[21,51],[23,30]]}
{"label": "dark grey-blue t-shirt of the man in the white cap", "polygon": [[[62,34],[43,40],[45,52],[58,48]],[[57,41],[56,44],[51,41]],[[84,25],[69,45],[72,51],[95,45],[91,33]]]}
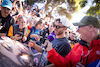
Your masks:
{"label": "dark grey-blue t-shirt of the man in the white cap", "polygon": [[[70,44],[66,37],[59,39],[55,38],[51,43],[56,52],[63,57],[65,57],[71,50]],[[44,51],[39,64],[41,67],[51,64],[51,62],[49,62],[47,59],[47,55],[47,51]]]}

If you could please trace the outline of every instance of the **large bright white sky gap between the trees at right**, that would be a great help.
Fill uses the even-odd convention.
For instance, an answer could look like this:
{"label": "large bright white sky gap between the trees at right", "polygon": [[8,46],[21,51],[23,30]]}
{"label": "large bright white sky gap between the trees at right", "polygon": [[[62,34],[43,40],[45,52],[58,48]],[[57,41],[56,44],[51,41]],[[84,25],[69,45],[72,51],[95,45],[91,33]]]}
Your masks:
{"label": "large bright white sky gap between the trees at right", "polygon": [[86,12],[90,8],[90,6],[92,5],[92,1],[93,0],[88,0],[88,3],[86,4],[86,6],[84,8],[82,8],[78,12],[75,12],[74,14],[72,14],[72,19],[70,20],[70,23],[71,23],[71,28],[73,29],[74,32],[76,31],[77,27],[73,26],[72,23],[80,22],[80,20],[84,16],[86,16]]}

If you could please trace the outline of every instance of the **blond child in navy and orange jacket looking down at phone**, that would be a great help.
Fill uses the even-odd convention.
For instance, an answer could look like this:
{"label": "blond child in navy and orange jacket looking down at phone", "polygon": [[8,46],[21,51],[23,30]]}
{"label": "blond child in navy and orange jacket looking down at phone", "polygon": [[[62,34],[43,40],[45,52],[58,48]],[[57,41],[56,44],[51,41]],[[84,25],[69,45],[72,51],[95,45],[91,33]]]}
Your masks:
{"label": "blond child in navy and orange jacket looking down at phone", "polygon": [[18,24],[10,26],[8,36],[13,40],[20,40],[20,42],[25,42],[30,32],[26,26],[27,20],[24,16],[20,16],[18,19]]}

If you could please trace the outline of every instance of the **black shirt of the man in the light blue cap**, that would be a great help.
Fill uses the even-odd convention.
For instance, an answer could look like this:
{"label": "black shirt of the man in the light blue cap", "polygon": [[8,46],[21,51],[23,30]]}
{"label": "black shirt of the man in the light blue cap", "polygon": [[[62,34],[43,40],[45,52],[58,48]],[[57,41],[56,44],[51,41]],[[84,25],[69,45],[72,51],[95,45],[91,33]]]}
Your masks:
{"label": "black shirt of the man in the light blue cap", "polygon": [[0,30],[0,33],[8,33],[9,27],[15,23],[14,18],[8,15],[6,18],[2,17],[0,11],[0,23],[2,24],[3,28]]}

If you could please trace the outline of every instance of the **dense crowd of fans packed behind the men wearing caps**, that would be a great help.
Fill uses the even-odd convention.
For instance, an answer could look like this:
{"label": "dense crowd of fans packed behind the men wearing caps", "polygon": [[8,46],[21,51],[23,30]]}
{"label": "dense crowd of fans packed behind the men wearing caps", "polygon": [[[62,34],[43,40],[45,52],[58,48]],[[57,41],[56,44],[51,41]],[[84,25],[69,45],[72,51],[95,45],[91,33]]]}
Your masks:
{"label": "dense crowd of fans packed behind the men wearing caps", "polygon": [[[33,7],[25,3],[23,4],[19,0],[13,1],[12,6],[13,8],[10,12],[10,16],[14,18],[15,23],[9,27],[9,31],[7,33],[7,36],[12,39],[18,40],[22,43],[28,42],[30,39],[36,40],[37,42],[39,42],[39,40],[44,42],[45,38],[47,38],[48,35],[54,31],[54,29],[51,29],[51,27],[54,28],[54,17],[46,15],[45,11],[39,9],[38,6]],[[20,29],[20,31],[14,29],[14,27],[16,29],[19,27],[18,29]],[[24,32],[28,33],[22,33],[22,29],[24,28]],[[45,30],[46,28],[48,29]],[[37,32],[35,32],[36,30]],[[17,34],[21,34],[22,37],[19,37]],[[77,35],[73,33],[73,31],[67,31],[65,34],[67,35],[66,37],[69,39],[71,45],[78,42]]]}

